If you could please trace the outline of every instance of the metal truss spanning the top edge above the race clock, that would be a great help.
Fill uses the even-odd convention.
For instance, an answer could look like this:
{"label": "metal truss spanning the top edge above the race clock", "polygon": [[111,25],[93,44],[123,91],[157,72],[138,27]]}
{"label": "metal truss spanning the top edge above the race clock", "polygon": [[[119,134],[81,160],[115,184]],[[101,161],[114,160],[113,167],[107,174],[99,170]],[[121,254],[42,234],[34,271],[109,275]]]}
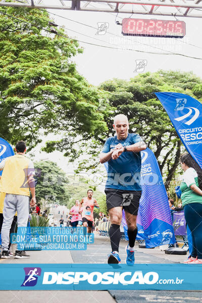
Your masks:
{"label": "metal truss spanning the top edge above the race clock", "polygon": [[202,18],[202,0],[0,0],[0,7]]}

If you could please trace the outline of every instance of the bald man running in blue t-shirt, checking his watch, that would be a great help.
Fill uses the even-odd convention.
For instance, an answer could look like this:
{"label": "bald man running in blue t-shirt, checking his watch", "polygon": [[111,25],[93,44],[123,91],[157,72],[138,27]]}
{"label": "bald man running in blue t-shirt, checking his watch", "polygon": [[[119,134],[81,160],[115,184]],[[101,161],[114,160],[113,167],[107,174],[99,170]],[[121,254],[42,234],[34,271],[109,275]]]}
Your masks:
{"label": "bald man running in blue t-shirt, checking his watch", "polygon": [[141,197],[140,151],[146,149],[146,144],[139,135],[128,133],[129,123],[125,115],[117,115],[114,118],[113,127],[116,135],[106,140],[99,157],[100,163],[108,162],[105,193],[111,221],[112,246],[112,252],[108,255],[108,263],[121,262],[119,242],[122,210],[124,209],[129,238],[129,244],[126,246],[126,264],[133,266],[135,262],[134,244],[137,235],[136,218]]}

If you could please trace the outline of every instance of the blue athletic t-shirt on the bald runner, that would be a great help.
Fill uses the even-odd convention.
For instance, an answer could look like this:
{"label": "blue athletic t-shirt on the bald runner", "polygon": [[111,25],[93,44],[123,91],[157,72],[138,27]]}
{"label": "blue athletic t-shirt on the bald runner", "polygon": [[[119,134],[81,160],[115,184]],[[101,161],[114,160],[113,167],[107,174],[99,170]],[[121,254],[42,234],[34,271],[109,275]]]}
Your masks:
{"label": "blue athletic t-shirt on the bald runner", "polygon": [[[137,134],[128,134],[124,140],[118,140],[117,136],[109,137],[102,153],[109,153],[115,145],[121,143],[123,146],[132,145],[142,141]],[[108,179],[106,188],[121,190],[141,190],[140,185],[141,154],[134,151],[123,152],[118,159],[108,161]]]}

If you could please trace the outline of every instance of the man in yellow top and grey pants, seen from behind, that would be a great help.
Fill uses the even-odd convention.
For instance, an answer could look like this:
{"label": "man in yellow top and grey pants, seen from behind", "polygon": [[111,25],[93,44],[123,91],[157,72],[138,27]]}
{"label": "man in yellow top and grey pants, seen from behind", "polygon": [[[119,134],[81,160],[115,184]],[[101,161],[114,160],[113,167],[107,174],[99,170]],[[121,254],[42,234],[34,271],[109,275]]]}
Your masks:
{"label": "man in yellow top and grey pants, seen from behind", "polygon": [[[4,200],[4,222],[2,226],[2,256],[9,258],[9,232],[14,215],[18,213],[18,230],[27,226],[29,218],[29,190],[32,194],[30,206],[36,204],[35,198],[35,175],[34,166],[31,160],[25,157],[26,144],[19,141],[15,147],[17,155],[8,157],[0,163],[0,170],[3,170],[0,180],[0,192],[6,192]],[[23,246],[18,244],[15,253],[16,259],[30,258],[23,250]]]}

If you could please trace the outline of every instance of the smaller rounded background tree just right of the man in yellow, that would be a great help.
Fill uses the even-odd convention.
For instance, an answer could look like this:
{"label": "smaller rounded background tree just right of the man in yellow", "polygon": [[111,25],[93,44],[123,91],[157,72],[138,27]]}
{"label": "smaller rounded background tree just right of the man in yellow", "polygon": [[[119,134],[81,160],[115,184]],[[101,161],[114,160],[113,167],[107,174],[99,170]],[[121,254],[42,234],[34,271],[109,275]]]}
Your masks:
{"label": "smaller rounded background tree just right of the man in yellow", "polygon": [[38,161],[34,163],[36,170],[36,201],[48,201],[67,205],[70,195],[67,191],[68,179],[65,172],[52,161]]}

